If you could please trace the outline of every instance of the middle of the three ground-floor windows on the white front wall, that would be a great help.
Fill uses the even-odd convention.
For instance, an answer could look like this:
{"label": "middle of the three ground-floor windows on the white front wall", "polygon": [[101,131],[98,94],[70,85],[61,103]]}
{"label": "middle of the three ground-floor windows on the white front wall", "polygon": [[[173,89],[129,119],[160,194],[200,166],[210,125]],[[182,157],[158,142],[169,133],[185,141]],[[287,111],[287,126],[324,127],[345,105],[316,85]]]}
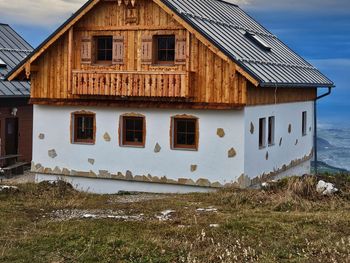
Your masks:
{"label": "middle of the three ground-floor windows on the white front wall", "polygon": [[122,116],[122,145],[145,146],[145,118]]}

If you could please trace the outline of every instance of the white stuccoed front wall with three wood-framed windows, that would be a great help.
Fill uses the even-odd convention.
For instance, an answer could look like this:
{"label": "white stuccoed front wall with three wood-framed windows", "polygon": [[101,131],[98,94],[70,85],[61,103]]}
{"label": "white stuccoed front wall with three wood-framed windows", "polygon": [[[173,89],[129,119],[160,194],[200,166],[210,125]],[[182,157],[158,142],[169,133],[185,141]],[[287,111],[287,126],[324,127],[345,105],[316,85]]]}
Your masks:
{"label": "white stuccoed front wall with three wood-framed windows", "polygon": [[[96,113],[96,144],[79,145],[70,142],[70,117],[74,111]],[[140,113],[146,117],[147,134],[145,148],[120,147],[118,142],[119,117],[125,113]],[[170,118],[177,114],[189,114],[199,118],[199,150],[170,149]],[[226,136],[219,138],[217,128],[223,128]],[[103,135],[108,132],[111,142]],[[45,139],[40,140],[39,134]],[[244,173],[244,111],[167,110],[167,109],[118,109],[94,107],[34,106],[33,162],[54,169],[67,168],[78,171],[107,170],[110,173],[130,170],[134,175],[167,176],[178,178],[208,179],[222,184],[235,181]],[[154,152],[156,143],[162,147]],[[234,148],[235,158],[228,158],[228,150]],[[48,156],[55,149],[57,157]],[[95,159],[95,164],[88,159]],[[191,172],[191,165],[198,165]]]}

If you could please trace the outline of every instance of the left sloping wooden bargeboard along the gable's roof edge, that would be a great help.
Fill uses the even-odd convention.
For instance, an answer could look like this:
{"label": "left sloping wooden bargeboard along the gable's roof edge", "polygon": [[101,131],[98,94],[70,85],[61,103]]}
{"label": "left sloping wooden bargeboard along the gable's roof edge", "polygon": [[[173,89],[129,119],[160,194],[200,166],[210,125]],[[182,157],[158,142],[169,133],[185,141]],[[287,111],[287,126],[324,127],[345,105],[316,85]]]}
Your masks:
{"label": "left sloping wooden bargeboard along the gable's roof edge", "polygon": [[[33,63],[43,52],[45,52],[57,39],[59,39],[64,33],[66,33],[77,21],[80,20],[85,14],[87,14],[95,5],[97,5],[101,0],[93,0],[90,5],[88,5],[84,10],[82,10],[76,17],[74,17],[68,24],[66,24],[59,32],[56,33],[51,39],[43,45],[39,50],[35,52],[27,63]],[[15,72],[9,76],[8,80],[14,80],[21,71],[25,69],[25,65],[19,67]]]}

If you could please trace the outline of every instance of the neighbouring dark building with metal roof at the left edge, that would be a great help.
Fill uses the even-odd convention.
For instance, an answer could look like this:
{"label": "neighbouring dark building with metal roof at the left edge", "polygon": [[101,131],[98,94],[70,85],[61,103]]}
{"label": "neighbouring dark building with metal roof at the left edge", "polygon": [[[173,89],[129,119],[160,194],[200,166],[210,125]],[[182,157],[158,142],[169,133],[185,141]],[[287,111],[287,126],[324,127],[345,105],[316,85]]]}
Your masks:
{"label": "neighbouring dark building with metal roof at the left edge", "polygon": [[0,158],[20,155],[32,160],[33,106],[28,104],[28,81],[5,81],[4,77],[33,48],[9,25],[0,24]]}

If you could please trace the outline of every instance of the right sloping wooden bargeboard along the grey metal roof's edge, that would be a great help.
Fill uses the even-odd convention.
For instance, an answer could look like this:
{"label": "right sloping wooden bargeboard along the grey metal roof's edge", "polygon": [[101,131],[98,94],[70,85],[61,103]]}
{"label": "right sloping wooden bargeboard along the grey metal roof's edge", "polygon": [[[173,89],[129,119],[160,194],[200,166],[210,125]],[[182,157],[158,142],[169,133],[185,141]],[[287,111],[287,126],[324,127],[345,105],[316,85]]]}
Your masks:
{"label": "right sloping wooden bargeboard along the grey metal roof's edge", "polygon": [[[212,52],[217,56],[227,62],[233,63],[232,59],[225,55],[220,49],[218,49],[214,44],[212,44],[208,39],[206,39],[200,32],[192,28],[184,19],[179,17],[173,10],[171,10],[167,5],[165,5],[161,0],[153,0],[154,3],[159,5],[165,12],[167,12],[173,19],[175,19],[180,25],[186,28],[191,34],[195,35],[196,38],[201,41],[205,46],[207,46]],[[259,86],[259,82],[250,74],[248,74],[240,66],[236,65],[236,70],[245,78],[247,78],[254,86]]]}

